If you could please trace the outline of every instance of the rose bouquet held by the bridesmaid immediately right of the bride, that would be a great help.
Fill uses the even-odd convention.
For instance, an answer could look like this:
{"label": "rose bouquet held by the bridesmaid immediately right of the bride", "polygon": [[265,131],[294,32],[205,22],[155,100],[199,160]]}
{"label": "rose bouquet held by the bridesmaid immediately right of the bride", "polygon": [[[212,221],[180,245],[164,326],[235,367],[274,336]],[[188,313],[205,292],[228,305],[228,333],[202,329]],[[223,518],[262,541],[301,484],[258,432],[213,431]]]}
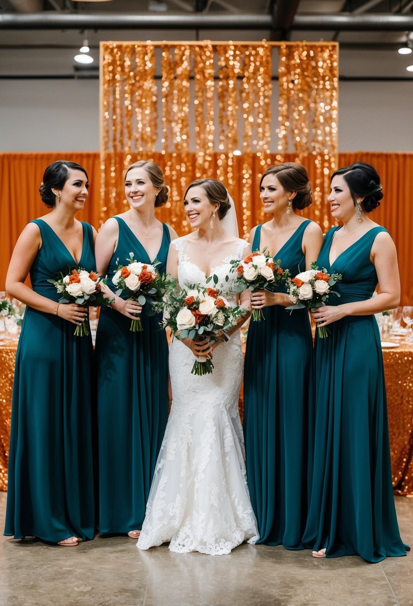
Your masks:
{"label": "rose bouquet held by the bridesmaid immediately right of the bride", "polygon": [[[231,265],[231,271],[237,274],[236,284],[240,291],[246,288],[253,293],[257,290],[273,291],[274,287],[284,284],[290,275],[288,269],[283,270],[280,266],[280,259],[274,261],[266,249],[262,253],[252,253],[241,261],[231,261]],[[253,309],[251,316],[256,322],[265,319],[260,309]]]}

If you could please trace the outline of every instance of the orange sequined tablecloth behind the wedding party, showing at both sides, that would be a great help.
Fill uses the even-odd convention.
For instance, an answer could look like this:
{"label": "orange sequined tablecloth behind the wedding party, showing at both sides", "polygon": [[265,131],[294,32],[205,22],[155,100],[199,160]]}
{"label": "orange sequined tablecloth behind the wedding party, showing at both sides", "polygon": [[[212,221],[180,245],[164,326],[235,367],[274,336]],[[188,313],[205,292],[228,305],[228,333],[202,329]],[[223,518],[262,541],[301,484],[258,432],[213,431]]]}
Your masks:
{"label": "orange sequined tablecloth behind the wedding party, showing at both sides", "polygon": [[[16,341],[0,344],[0,490],[7,490]],[[383,349],[394,491],[413,496],[413,347]],[[240,401],[240,407],[243,402]]]}

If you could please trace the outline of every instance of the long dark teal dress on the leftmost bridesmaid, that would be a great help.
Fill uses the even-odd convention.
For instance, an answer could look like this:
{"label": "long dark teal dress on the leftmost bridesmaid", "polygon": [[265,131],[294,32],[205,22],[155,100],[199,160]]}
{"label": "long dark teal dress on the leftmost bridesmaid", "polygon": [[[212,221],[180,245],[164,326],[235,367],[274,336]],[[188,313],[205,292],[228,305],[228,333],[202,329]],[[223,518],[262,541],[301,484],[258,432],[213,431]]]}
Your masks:
{"label": "long dark teal dress on the leftmost bridesmaid", "polygon": [[[50,278],[75,267],[96,270],[93,232],[82,223],[79,264],[42,219],[42,247],[30,269],[33,290],[58,301]],[[91,338],[50,313],[26,308],[16,354],[6,536],[58,542],[93,539]]]}

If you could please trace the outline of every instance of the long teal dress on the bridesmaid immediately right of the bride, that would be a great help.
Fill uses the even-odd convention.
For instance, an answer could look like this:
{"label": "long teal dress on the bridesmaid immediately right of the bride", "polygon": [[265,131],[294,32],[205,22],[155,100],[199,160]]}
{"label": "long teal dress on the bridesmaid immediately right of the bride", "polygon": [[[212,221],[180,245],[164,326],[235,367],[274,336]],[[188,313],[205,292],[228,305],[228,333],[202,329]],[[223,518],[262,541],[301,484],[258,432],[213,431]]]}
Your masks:
{"label": "long teal dress on the bridesmaid immediately right of the bride", "polygon": [[[279,250],[292,276],[305,270],[303,222]],[[260,250],[261,225],[253,251]],[[285,289],[280,288],[279,291]],[[244,371],[244,435],[249,493],[259,543],[303,548],[307,515],[308,407],[312,336],[308,312],[291,315],[280,305],[263,310],[265,321],[251,321]]]}

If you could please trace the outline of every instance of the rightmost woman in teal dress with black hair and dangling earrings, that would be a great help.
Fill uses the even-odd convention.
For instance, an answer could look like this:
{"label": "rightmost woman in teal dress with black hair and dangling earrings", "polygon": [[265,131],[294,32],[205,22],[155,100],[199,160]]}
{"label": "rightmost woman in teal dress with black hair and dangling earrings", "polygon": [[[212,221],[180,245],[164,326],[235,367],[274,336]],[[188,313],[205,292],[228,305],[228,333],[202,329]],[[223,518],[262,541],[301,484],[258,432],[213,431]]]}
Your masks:
{"label": "rightmost woman in teal dress with black hair and dangling earrings", "polygon": [[[386,387],[374,314],[397,307],[397,255],[367,216],[383,198],[377,172],[356,162],[331,179],[328,201],[342,222],[326,235],[319,265],[341,273],[340,298],[314,313],[316,448],[303,541],[315,558],[358,554],[368,562],[404,556],[392,494]],[[372,298],[377,284],[380,294]]]}

